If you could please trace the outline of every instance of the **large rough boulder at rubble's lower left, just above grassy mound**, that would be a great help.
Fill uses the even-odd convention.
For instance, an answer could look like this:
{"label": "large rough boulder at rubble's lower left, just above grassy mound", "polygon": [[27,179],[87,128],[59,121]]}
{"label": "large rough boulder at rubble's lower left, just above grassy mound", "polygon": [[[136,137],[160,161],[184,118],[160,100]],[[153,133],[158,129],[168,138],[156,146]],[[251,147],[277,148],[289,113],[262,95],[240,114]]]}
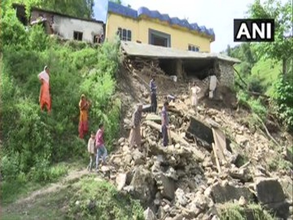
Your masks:
{"label": "large rough boulder at rubble's lower left, just above grassy mound", "polygon": [[155,197],[154,180],[150,172],[143,167],[134,170],[130,186],[133,187],[134,197],[140,199],[143,204],[149,204]]}

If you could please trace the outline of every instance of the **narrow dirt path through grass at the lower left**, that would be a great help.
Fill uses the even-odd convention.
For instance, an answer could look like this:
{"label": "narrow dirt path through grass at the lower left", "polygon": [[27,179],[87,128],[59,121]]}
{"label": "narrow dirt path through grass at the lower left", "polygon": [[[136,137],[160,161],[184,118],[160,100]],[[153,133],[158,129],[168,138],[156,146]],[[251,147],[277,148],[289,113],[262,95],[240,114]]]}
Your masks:
{"label": "narrow dirt path through grass at the lower left", "polygon": [[30,195],[18,199],[17,201],[7,205],[7,207],[3,207],[2,212],[9,212],[11,210],[20,209],[22,206],[27,206],[28,204],[32,205],[37,198],[41,198],[44,195],[60,191],[70,185],[70,183],[88,174],[89,173],[86,169],[81,171],[72,171],[59,182],[51,183],[42,189],[33,191]]}

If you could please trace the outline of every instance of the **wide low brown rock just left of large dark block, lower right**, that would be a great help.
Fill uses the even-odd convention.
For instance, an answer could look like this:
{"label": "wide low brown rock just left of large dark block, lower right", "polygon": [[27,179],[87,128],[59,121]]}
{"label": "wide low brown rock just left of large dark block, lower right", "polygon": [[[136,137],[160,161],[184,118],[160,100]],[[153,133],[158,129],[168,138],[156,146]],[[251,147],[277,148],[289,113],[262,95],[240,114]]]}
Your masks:
{"label": "wide low brown rock just left of large dark block, lower right", "polygon": [[234,199],[239,200],[241,196],[247,201],[253,199],[253,194],[249,188],[245,186],[232,186],[230,184],[223,186],[220,183],[216,183],[211,187],[211,191],[215,203],[225,203],[233,201]]}

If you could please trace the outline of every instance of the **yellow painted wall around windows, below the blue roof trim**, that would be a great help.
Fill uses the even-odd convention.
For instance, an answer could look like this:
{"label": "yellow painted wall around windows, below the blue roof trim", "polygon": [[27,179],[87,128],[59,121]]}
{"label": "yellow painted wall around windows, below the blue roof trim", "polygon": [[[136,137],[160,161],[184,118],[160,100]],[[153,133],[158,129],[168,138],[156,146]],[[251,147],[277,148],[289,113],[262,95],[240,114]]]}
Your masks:
{"label": "yellow painted wall around windows, below the blue roof trim", "polygon": [[200,52],[210,52],[209,38],[196,32],[191,32],[182,27],[172,27],[168,23],[153,19],[140,18],[134,20],[108,13],[105,37],[110,39],[115,36],[118,27],[131,30],[131,41],[134,42],[141,41],[143,44],[148,44],[148,29],[151,28],[171,35],[171,48],[188,50],[188,44],[193,44],[199,46]]}

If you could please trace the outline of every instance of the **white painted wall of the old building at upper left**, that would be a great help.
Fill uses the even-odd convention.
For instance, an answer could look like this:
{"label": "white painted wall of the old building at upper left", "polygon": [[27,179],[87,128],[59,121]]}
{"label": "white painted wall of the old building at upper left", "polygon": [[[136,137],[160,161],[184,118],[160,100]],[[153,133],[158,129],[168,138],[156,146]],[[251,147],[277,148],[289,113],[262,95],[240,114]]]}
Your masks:
{"label": "white painted wall of the old building at upper left", "polygon": [[97,22],[82,21],[78,19],[54,15],[52,25],[54,32],[59,33],[63,38],[73,40],[73,32],[83,32],[83,41],[93,43],[94,35],[103,34],[103,24]]}

